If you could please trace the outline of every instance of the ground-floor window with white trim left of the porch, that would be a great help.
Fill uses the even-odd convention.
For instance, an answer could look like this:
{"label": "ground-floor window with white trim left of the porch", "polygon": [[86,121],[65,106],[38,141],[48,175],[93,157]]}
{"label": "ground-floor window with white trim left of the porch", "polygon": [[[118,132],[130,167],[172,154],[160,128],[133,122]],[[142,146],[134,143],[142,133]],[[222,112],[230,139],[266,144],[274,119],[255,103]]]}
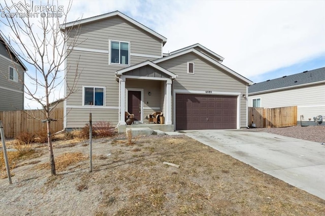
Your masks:
{"label": "ground-floor window with white trim left of the porch", "polygon": [[84,105],[104,105],[104,87],[84,87]]}

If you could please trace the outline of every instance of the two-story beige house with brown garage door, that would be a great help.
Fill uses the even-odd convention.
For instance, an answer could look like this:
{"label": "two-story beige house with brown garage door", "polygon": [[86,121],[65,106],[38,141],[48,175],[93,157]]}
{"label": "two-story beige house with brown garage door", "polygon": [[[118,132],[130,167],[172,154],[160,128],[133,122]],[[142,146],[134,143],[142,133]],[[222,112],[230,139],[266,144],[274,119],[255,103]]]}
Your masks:
{"label": "two-story beige house with brown garage door", "polygon": [[245,95],[252,82],[204,46],[163,54],[165,37],[118,11],[61,26],[68,29],[71,41],[80,43],[67,58],[66,94],[77,67],[81,74],[77,93],[64,101],[64,128],[83,127],[89,112],[92,121],[124,126],[125,111],[135,115],[135,124],[161,111],[165,130],[247,126]]}

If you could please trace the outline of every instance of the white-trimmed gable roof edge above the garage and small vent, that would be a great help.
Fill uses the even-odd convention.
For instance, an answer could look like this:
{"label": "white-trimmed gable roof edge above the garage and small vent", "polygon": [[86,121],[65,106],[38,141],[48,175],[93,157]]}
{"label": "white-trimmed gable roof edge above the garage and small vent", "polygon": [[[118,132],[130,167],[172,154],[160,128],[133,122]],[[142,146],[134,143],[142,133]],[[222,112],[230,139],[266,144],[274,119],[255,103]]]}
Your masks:
{"label": "white-trimmed gable roof edge above the garage and small vent", "polygon": [[172,59],[172,58],[175,58],[175,57],[178,57],[178,56],[181,56],[181,55],[185,55],[187,53],[195,53],[196,55],[202,57],[203,59],[209,61],[210,63],[222,68],[223,70],[225,70],[226,72],[228,72],[229,74],[233,75],[234,77],[237,77],[238,79],[242,80],[243,82],[251,85],[252,84],[252,81],[248,80],[247,78],[241,76],[240,74],[236,73],[234,70],[224,66],[223,64],[221,64],[220,62],[212,59],[211,57],[207,56],[206,54],[194,49],[194,48],[189,48],[189,49],[186,49],[186,50],[182,50],[182,51],[179,51],[179,52],[175,52],[169,56],[166,56],[166,57],[162,57],[162,58],[158,58],[156,60],[153,60],[152,62],[153,63],[159,63],[159,62],[163,62],[163,61],[167,61],[169,59]]}

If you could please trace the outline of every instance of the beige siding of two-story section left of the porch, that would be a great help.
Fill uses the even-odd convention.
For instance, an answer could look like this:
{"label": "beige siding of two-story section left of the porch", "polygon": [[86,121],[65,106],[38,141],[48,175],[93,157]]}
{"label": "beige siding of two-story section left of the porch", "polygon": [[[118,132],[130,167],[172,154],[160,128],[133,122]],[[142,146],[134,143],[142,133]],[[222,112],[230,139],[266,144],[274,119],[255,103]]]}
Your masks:
{"label": "beige siding of two-story section left of the porch", "polygon": [[[73,37],[74,34],[75,31],[71,31],[67,47],[71,46],[72,41],[77,38]],[[145,60],[154,60],[152,56],[161,56],[162,41],[160,39],[120,17],[82,24],[76,49],[67,58],[67,85],[73,85],[77,68],[80,75],[76,92],[67,99],[68,128],[83,127],[88,119],[89,110],[83,109],[87,107],[82,104],[83,86],[106,88],[105,109],[98,109],[95,112],[98,115],[102,113],[114,124],[118,122],[119,83],[115,79],[115,72],[126,66],[109,65],[109,40],[130,42],[131,65]],[[104,53],[99,51],[104,51]],[[137,56],[139,54],[141,56]],[[69,87],[67,94],[69,94]]]}

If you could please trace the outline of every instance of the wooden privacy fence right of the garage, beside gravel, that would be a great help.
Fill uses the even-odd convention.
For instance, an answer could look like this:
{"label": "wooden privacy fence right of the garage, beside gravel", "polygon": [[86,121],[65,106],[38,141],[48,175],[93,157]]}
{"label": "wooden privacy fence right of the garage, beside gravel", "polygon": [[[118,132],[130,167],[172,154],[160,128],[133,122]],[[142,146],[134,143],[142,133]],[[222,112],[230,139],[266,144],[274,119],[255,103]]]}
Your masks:
{"label": "wooden privacy fence right of the garage, beside gravel", "polygon": [[289,127],[297,125],[297,106],[277,108],[248,107],[248,122],[257,128]]}

